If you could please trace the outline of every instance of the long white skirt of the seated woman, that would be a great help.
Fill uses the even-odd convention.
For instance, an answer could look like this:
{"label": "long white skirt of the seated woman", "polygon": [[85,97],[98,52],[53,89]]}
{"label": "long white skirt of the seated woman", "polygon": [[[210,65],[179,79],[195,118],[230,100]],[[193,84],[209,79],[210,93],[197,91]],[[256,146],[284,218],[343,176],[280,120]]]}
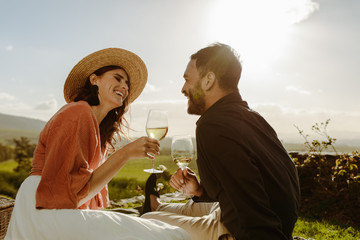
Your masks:
{"label": "long white skirt of the seated woman", "polygon": [[41,176],[21,185],[6,240],[14,239],[190,239],[182,228],[158,220],[101,210],[35,208]]}

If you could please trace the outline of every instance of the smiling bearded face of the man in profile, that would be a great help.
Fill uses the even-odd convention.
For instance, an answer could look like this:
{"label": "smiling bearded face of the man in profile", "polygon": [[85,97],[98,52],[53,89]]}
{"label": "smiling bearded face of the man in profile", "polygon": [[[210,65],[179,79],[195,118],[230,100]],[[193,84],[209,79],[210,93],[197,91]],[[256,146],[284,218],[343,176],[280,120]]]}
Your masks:
{"label": "smiling bearded face of the man in profile", "polygon": [[201,88],[196,60],[191,60],[184,73],[185,83],[181,92],[188,98],[188,113],[201,115],[205,111],[205,93]]}

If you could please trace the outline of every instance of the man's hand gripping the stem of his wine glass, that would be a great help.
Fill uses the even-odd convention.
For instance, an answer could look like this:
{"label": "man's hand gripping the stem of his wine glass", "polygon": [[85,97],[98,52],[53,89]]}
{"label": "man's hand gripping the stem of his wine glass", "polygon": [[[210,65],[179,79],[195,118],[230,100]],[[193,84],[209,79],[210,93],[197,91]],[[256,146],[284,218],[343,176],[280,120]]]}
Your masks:
{"label": "man's hand gripping the stem of his wine glass", "polygon": [[179,168],[170,179],[170,185],[178,191],[184,191],[186,194],[200,197],[203,193],[201,184],[196,174],[186,168],[184,171]]}

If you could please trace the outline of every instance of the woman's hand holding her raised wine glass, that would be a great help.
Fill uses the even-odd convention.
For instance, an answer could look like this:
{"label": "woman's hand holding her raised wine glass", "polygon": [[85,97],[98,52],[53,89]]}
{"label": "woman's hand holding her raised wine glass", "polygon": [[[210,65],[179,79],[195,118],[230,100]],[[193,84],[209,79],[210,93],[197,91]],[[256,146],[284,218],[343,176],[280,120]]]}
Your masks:
{"label": "woman's hand holding her raised wine glass", "polygon": [[141,137],[126,144],[123,150],[128,154],[129,159],[144,157],[155,159],[160,153],[160,143],[154,138]]}

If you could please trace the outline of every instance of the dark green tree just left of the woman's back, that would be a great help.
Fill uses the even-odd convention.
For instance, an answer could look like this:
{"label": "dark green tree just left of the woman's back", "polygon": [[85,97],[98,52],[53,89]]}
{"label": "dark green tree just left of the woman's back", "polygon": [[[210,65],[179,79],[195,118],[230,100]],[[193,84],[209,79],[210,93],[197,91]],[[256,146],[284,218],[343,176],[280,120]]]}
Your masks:
{"label": "dark green tree just left of the woman's back", "polygon": [[18,163],[14,171],[29,173],[35,144],[30,144],[30,140],[26,137],[21,137],[20,139],[14,138],[13,141],[15,144],[15,161]]}

